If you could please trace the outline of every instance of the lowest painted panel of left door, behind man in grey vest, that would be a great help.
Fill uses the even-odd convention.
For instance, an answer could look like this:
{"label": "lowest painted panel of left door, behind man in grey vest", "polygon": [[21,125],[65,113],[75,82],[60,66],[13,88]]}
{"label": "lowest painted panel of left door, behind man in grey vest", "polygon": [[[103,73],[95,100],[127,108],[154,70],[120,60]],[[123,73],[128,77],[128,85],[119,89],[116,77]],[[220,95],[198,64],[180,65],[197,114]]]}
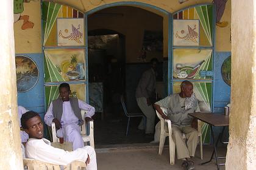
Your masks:
{"label": "lowest painted panel of left door, behind man in grey vest", "polygon": [[[69,84],[71,94],[69,97],[79,98],[82,101],[87,100],[85,94],[85,84]],[[49,106],[52,100],[55,100],[59,97],[59,85],[54,86],[45,86],[45,98],[46,98],[46,107]]]}

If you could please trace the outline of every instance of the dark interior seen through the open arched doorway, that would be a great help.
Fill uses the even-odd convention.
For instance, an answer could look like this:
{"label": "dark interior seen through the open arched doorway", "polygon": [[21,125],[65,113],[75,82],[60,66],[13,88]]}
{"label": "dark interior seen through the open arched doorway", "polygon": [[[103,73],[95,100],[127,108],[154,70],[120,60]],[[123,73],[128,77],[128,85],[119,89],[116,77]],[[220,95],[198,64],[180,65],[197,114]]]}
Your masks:
{"label": "dark interior seen through the open arched doorway", "polygon": [[[140,118],[136,119],[133,118],[132,125],[130,127],[130,133],[128,137],[125,137],[124,134],[126,132],[127,126],[127,117],[124,116],[121,103],[120,103],[120,96],[124,95],[126,98],[127,109],[133,112],[141,112],[137,106],[137,102],[135,99],[135,89],[137,87],[137,83],[141,77],[141,74],[144,70],[150,67],[149,61],[151,58],[159,58],[158,60],[161,61],[159,70],[160,70],[160,80],[159,88],[158,89],[167,89],[164,87],[163,83],[163,65],[165,65],[166,73],[168,72],[168,55],[166,58],[163,58],[163,16],[156,15],[155,13],[149,12],[148,10],[144,10],[138,8],[136,5],[127,5],[129,3],[124,3],[121,5],[113,5],[112,7],[107,6],[107,8],[101,7],[97,11],[94,10],[93,13],[87,13],[87,30],[88,30],[88,73],[89,73],[89,99],[90,97],[90,58],[91,54],[91,36],[98,36],[96,37],[98,40],[99,36],[107,36],[113,34],[119,35],[120,40],[122,41],[122,36],[120,33],[124,35],[125,39],[123,38],[124,44],[119,44],[119,47],[124,47],[124,50],[120,50],[117,48],[119,54],[121,56],[116,57],[113,55],[115,52],[110,52],[109,49],[104,49],[107,60],[110,57],[110,63],[105,63],[107,69],[114,68],[117,66],[118,73],[116,74],[116,78],[121,77],[121,79],[117,81],[113,81],[112,83],[105,83],[108,84],[107,87],[103,85],[103,89],[107,92],[102,92],[105,94],[106,100],[103,100],[104,105],[104,120],[96,120],[95,121],[95,142],[96,144],[116,144],[116,143],[148,143],[149,141],[154,140],[153,136],[151,138],[144,137],[143,132],[137,131],[137,126],[140,121]],[[138,3],[140,4],[140,3]],[[141,5],[141,4],[140,4]],[[148,7],[148,4],[144,6],[144,8]],[[154,7],[156,8],[156,7]],[[140,15],[138,15],[140,14]],[[166,15],[168,16],[168,15]],[[148,20],[147,18],[151,18]],[[115,30],[115,31],[113,31]],[[161,39],[162,49],[156,49],[158,47],[148,45],[148,49],[145,47],[146,57],[141,58],[141,50],[145,43],[152,41],[151,36],[155,39]],[[149,38],[149,40],[147,39]],[[107,38],[108,39],[108,38]],[[108,41],[108,40],[107,40]],[[96,42],[94,40],[94,42]],[[98,41],[99,42],[99,41]],[[166,47],[168,47],[168,41],[166,41]],[[152,43],[152,42],[151,42]],[[111,44],[111,43],[110,43]],[[95,46],[96,44],[94,44]],[[100,43],[96,45],[98,47],[102,46]],[[154,48],[154,49],[149,49]],[[94,49],[99,53],[104,53],[102,49]],[[108,52],[106,52],[106,50]],[[160,52],[159,52],[160,51]],[[109,55],[110,54],[110,55]],[[112,59],[111,59],[112,58]],[[104,60],[102,60],[104,61]],[[112,61],[112,62],[111,62]],[[114,61],[114,62],[113,62]],[[121,61],[121,62],[120,62]],[[164,63],[164,64],[163,64]],[[104,65],[104,64],[102,64]],[[115,68],[114,68],[115,69]],[[109,70],[105,71],[107,73]],[[115,70],[113,71],[115,72]],[[121,75],[121,76],[119,76]],[[165,75],[165,83],[168,86],[168,75]],[[108,75],[105,75],[105,80],[108,79]],[[116,83],[118,86],[116,86]],[[110,86],[109,86],[110,85]],[[108,88],[110,87],[110,88]],[[113,87],[113,88],[112,88]],[[121,87],[121,88],[120,88]],[[167,90],[165,95],[168,94]],[[106,97],[107,96],[107,97]],[[104,102],[105,101],[105,102]],[[91,100],[90,100],[91,102]],[[99,103],[99,102],[93,102]],[[107,139],[110,139],[107,141]]]}

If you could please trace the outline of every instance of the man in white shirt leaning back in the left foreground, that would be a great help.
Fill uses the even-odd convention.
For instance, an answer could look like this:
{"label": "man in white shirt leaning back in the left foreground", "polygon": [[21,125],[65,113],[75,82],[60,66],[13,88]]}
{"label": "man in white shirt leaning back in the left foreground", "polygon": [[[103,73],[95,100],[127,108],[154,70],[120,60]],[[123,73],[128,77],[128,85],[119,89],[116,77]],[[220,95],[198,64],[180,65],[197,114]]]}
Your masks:
{"label": "man in white shirt leaning back in the left foreground", "polygon": [[26,158],[56,165],[68,165],[72,161],[81,160],[85,161],[88,170],[97,170],[96,153],[91,146],[84,146],[72,152],[52,147],[51,142],[43,138],[43,122],[36,112],[29,111],[23,114],[21,126],[29,134]]}

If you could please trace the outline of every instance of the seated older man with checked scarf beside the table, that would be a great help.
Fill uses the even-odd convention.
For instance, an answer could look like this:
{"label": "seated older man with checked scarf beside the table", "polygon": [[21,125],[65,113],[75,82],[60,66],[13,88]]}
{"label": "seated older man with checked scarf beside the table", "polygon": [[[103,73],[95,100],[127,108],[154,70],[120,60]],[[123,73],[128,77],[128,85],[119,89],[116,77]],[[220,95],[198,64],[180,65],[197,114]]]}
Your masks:
{"label": "seated older man with checked scarf beside the table", "polygon": [[[193,157],[196,151],[198,132],[196,130],[197,120],[190,117],[188,113],[200,112],[200,109],[193,93],[193,84],[190,81],[183,81],[180,84],[180,89],[179,94],[169,95],[157,101],[154,107],[162,118],[171,120],[172,138],[177,147],[177,158],[184,160],[183,169],[191,170],[194,169]],[[167,115],[160,107],[168,109]],[[157,128],[155,133],[155,137],[160,136],[158,135],[160,131]],[[187,144],[182,138],[182,133],[187,138]]]}

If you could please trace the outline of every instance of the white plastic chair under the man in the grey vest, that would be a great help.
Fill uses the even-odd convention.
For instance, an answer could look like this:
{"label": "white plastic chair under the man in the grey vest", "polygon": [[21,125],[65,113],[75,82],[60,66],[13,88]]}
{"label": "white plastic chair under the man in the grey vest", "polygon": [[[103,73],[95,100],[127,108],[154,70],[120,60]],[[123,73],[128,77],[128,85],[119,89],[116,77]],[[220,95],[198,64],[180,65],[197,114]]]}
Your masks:
{"label": "white plastic chair under the man in the grey vest", "polygon": [[[85,110],[81,110],[81,115],[84,120],[84,124],[81,126],[81,135],[84,142],[90,142],[90,146],[94,148],[94,132],[93,132],[93,121],[85,121]],[[88,124],[88,126],[87,126]],[[89,131],[87,131],[87,127]],[[88,134],[89,133],[89,134]],[[59,142],[59,138],[56,135],[55,123],[52,122],[52,141]]]}

